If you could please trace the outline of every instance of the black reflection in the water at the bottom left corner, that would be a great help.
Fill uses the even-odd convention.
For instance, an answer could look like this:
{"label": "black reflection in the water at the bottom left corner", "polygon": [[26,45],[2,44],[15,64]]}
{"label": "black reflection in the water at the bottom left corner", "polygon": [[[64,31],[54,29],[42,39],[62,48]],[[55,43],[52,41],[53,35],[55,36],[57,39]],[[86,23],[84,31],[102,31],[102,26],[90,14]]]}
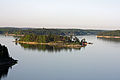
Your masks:
{"label": "black reflection in the water at the bottom left corner", "polygon": [[4,65],[4,66],[0,66],[0,80],[2,78],[5,78],[7,77],[7,74],[8,74],[8,71],[9,71],[9,68],[11,68],[12,65]]}

